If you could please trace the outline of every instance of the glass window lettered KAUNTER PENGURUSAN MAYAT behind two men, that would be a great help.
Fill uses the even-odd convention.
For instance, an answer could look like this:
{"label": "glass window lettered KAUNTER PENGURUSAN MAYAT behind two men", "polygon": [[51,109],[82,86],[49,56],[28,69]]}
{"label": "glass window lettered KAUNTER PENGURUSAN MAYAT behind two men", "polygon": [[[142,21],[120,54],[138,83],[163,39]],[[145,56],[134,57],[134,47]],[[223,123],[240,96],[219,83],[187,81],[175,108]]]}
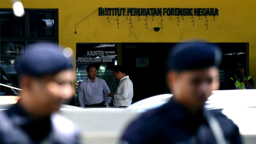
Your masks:
{"label": "glass window lettered KAUNTER PENGURUSAN MAYAT behind two men", "polygon": [[86,67],[94,64],[97,78],[104,79],[110,91],[116,91],[117,82],[112,69],[117,59],[117,43],[76,43],[76,94],[81,81],[88,76]]}

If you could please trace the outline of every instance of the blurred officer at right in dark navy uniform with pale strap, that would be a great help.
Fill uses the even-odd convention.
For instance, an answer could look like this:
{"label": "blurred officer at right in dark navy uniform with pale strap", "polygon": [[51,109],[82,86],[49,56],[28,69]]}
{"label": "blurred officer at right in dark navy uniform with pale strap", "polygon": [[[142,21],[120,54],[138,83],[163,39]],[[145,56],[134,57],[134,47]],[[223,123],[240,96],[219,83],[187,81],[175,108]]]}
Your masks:
{"label": "blurred officer at right in dark navy uniform with pale strap", "polygon": [[167,82],[173,96],[143,113],[124,131],[122,144],[240,144],[239,128],[224,114],[204,110],[219,88],[220,49],[206,42],[177,44],[169,53]]}

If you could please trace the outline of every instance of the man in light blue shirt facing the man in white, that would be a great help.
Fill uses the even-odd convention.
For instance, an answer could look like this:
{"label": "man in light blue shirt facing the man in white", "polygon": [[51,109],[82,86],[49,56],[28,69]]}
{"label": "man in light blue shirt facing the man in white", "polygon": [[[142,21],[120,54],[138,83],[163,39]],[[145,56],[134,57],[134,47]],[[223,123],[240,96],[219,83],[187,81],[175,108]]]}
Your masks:
{"label": "man in light blue shirt facing the man in white", "polygon": [[96,78],[97,70],[92,64],[86,67],[88,78],[80,83],[78,99],[80,107],[106,107],[111,101],[110,89],[105,80]]}

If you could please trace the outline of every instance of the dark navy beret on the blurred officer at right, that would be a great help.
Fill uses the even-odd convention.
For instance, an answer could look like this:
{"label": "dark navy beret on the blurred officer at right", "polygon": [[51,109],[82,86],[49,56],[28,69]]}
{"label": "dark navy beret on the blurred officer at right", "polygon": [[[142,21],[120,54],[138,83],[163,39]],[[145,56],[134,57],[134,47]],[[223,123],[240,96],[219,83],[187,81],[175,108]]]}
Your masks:
{"label": "dark navy beret on the blurred officer at right", "polygon": [[175,71],[193,70],[219,66],[222,59],[220,48],[207,42],[183,42],[169,52],[168,69]]}

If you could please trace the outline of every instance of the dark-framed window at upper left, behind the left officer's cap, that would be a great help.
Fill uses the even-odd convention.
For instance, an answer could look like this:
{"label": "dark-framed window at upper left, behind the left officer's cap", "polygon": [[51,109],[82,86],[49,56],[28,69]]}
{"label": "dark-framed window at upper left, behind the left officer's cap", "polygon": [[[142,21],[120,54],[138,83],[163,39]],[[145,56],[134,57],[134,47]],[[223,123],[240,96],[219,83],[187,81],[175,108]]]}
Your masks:
{"label": "dark-framed window at upper left, behind the left officer's cap", "polygon": [[16,87],[14,64],[35,42],[58,43],[58,9],[25,9],[23,17],[0,9],[0,66]]}

